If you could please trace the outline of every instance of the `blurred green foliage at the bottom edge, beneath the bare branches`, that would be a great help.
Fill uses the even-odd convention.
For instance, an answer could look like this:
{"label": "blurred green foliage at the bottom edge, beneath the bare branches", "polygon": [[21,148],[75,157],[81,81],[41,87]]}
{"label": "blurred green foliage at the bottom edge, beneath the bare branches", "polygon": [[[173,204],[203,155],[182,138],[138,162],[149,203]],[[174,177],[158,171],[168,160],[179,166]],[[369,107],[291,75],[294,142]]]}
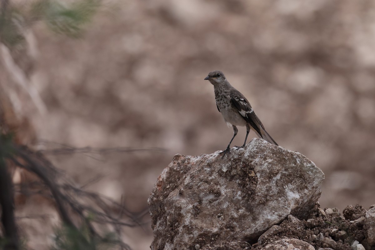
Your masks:
{"label": "blurred green foliage at the bottom edge, beneath the bare branches", "polygon": [[114,234],[99,238],[90,234],[87,226],[76,229],[66,225],[55,231],[54,240],[51,250],[111,250],[118,243]]}

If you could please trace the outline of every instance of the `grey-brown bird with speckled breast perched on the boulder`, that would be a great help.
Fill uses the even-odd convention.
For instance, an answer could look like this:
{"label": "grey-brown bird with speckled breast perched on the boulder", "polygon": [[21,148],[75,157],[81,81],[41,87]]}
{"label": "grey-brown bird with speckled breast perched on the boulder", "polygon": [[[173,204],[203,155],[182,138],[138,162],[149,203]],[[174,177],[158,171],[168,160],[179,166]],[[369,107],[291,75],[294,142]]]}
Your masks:
{"label": "grey-brown bird with speckled breast perched on the boulder", "polygon": [[228,127],[233,127],[234,135],[229,142],[228,147],[226,147],[226,150],[221,152],[224,153],[223,157],[229,152],[229,147],[234,137],[237,135],[238,129],[236,126],[246,126],[245,142],[241,147],[236,146],[237,150],[245,147],[250,129],[254,130],[259,138],[262,138],[271,144],[278,145],[269,133],[267,133],[266,129],[264,129],[262,122],[254,113],[249,101],[240,93],[240,91],[236,90],[229,84],[223,72],[215,70],[208,73],[208,76],[204,79],[210,81],[213,85],[217,110],[223,115]]}

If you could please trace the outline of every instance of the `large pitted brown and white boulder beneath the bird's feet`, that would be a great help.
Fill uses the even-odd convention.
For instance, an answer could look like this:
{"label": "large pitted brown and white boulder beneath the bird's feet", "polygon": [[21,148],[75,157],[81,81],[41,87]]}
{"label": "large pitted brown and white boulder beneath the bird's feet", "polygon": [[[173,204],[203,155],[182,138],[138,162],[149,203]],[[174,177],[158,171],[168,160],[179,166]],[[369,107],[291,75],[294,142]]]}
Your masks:
{"label": "large pitted brown and white boulder beneath the bird's feet", "polygon": [[223,159],[174,156],[148,199],[151,249],[194,249],[257,241],[288,214],[309,216],[323,172],[302,154],[252,139]]}

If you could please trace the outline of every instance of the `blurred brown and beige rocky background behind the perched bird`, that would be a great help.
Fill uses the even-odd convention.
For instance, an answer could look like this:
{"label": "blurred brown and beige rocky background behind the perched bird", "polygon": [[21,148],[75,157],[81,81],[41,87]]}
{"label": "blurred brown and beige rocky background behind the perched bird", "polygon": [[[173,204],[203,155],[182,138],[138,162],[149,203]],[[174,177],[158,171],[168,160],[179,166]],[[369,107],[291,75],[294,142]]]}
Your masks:
{"label": "blurred brown and beige rocky background behind the perched bird", "polygon": [[[24,39],[12,45],[3,32],[0,49],[3,118],[20,143],[152,149],[47,154],[77,183],[100,176],[90,190],[147,211],[174,154],[223,150],[233,135],[203,81],[222,70],[279,145],[323,170],[321,207],[375,203],[374,1],[86,0],[82,31],[23,16],[31,2],[9,2],[20,15],[8,28]],[[244,137],[240,128],[232,145]],[[18,216],[50,207],[16,204]],[[135,250],[152,241],[145,222],[124,235]],[[34,249],[47,249],[54,223],[20,222]]]}

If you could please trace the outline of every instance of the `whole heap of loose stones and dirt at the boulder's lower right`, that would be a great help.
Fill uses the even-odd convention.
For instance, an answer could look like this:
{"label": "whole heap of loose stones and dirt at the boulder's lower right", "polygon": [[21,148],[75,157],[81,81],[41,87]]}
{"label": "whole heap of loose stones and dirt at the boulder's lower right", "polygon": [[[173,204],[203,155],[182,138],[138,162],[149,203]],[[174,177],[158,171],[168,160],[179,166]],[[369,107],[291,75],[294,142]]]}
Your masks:
{"label": "whole heap of loose stones and dirt at the boulder's lower right", "polygon": [[[359,216],[360,219],[366,213],[360,205],[348,206],[344,211],[348,218]],[[311,245],[317,250],[375,250],[374,246],[368,244],[370,238],[366,235],[374,235],[374,233],[369,232],[365,224],[345,219],[337,208],[323,210],[317,204],[308,220],[299,220],[289,215],[280,225],[274,225],[264,232],[258,242],[251,246],[246,242],[228,241],[220,245],[208,246],[204,250],[269,250],[284,249],[283,247],[300,249],[297,244],[291,243],[299,241],[287,241],[290,244],[286,244],[286,239],[304,241],[306,246]]]}

